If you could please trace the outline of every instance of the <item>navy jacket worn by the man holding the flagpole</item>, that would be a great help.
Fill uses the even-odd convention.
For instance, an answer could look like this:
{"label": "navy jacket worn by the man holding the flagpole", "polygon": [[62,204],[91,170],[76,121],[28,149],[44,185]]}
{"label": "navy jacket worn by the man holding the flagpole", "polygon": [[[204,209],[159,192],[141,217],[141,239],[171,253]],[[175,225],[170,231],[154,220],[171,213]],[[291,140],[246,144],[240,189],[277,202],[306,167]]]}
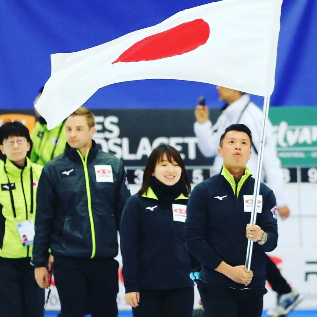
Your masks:
{"label": "navy jacket worn by the man holding the flagpole", "polygon": [[[244,195],[253,195],[254,178],[249,175],[236,197],[232,186],[221,175],[197,185],[187,205],[185,240],[188,250],[202,263],[200,279],[217,287],[245,288],[215,271],[222,261],[231,266],[244,265],[248,239],[246,225],[251,212],[244,211]],[[268,234],[267,242],[253,245],[251,270],[253,279],[248,288],[263,288],[266,280],[266,255],[277,246],[277,220],[271,212],[276,205],[273,191],[261,183],[262,213],[256,224]],[[274,211],[274,209],[273,209]]]}

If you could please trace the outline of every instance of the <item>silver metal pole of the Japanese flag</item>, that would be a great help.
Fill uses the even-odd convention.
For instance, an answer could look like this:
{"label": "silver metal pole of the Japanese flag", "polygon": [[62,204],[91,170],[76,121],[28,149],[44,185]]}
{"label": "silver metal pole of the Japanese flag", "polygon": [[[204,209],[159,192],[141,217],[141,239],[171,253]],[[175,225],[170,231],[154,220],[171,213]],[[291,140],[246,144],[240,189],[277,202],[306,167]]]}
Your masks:
{"label": "silver metal pole of the Japanese flag", "polygon": [[[258,201],[259,191],[260,191],[260,184],[261,184],[265,131],[266,131],[266,124],[268,122],[269,107],[270,107],[270,96],[264,97],[261,137],[260,137],[260,146],[258,150],[258,159],[257,159],[257,166],[256,166],[256,179],[255,179],[254,189],[253,189],[253,201],[252,201],[250,225],[255,225],[256,223],[256,206],[257,206],[257,201]],[[250,271],[250,267],[251,267],[252,249],[253,249],[253,241],[248,239],[247,256],[245,259],[245,266],[247,268],[247,271]]]}

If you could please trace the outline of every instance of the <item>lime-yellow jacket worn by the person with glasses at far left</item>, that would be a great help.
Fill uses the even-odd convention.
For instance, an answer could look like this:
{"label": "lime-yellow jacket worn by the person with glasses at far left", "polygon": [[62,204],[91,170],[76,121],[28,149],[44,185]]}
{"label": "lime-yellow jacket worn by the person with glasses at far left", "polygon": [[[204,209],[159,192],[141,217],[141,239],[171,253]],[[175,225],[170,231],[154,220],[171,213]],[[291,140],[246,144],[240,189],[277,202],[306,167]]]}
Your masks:
{"label": "lime-yellow jacket worn by the person with glasses at far left", "polygon": [[23,246],[17,223],[35,220],[36,190],[42,166],[26,158],[24,168],[8,158],[0,160],[0,257],[25,258],[32,256],[32,245]]}

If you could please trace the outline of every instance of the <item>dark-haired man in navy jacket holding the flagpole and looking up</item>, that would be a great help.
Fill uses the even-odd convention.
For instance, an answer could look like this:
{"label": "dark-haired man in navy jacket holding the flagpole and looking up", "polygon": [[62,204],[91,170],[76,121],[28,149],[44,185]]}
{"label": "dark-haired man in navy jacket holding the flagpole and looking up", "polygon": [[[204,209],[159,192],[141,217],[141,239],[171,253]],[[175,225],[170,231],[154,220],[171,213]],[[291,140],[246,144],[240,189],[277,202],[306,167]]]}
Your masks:
{"label": "dark-haired man in navy jacket holding the flagpole and looking up", "polygon": [[[251,131],[233,124],[220,137],[222,171],[198,184],[187,205],[185,242],[202,263],[198,290],[207,316],[260,317],[266,279],[266,254],[277,246],[276,200],[261,183],[257,221],[250,225],[254,178],[246,164]],[[251,270],[245,254],[253,247]]]}

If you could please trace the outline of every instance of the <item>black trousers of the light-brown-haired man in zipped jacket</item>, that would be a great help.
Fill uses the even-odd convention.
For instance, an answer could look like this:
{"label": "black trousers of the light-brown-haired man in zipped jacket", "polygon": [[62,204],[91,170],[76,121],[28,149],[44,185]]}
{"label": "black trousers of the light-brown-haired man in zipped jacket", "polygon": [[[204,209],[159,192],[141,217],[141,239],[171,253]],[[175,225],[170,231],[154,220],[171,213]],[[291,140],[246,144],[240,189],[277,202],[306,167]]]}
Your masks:
{"label": "black trousers of the light-brown-haired man in zipped jacket", "polygon": [[114,259],[54,258],[54,281],[62,317],[116,317],[119,263]]}

